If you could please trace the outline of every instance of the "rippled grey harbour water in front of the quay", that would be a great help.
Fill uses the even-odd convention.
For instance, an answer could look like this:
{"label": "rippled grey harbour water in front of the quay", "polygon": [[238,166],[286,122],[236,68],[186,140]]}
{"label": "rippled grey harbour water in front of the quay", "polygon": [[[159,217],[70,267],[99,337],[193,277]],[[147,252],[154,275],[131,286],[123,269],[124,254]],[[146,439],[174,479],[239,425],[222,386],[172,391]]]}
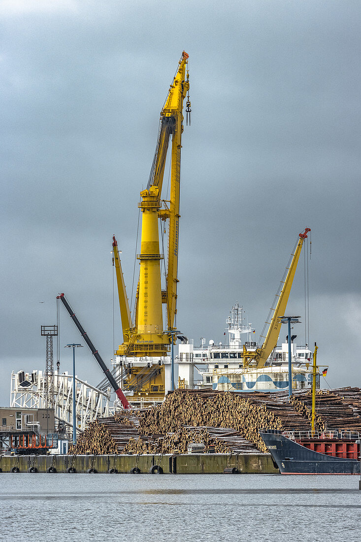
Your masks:
{"label": "rippled grey harbour water in front of the quay", "polygon": [[358,476],[0,474],[0,540],[361,541]]}

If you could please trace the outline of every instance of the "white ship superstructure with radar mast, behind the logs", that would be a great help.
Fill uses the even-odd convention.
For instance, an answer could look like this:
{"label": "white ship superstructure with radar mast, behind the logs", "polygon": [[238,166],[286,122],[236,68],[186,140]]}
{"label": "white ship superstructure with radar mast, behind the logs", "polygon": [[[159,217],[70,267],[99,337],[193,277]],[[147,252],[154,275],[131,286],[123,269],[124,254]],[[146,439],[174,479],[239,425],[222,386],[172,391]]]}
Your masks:
{"label": "white ship superstructure with radar mast, behind the logs", "polygon": [[[288,388],[288,349],[292,357],[292,389],[312,385],[312,351],[296,344],[296,335],[276,346],[263,367],[244,366],[244,350],[256,353],[255,329],[246,323],[245,311],[238,302],[232,307],[225,328],[226,343],[195,346],[184,339],[178,351],[179,385],[185,388],[209,388],[233,391],[280,391]],[[319,387],[319,375],[317,376]]]}

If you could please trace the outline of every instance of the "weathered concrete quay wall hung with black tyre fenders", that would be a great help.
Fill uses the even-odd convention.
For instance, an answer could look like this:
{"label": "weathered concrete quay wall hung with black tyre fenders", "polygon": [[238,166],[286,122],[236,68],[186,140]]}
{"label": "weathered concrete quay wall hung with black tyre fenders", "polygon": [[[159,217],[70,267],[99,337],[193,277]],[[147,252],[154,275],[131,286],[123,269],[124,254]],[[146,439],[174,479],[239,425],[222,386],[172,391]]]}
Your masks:
{"label": "weathered concrete quay wall hung with black tyre fenders", "polygon": [[[138,469],[150,473],[159,466],[164,474],[223,474],[224,469],[236,469],[240,474],[278,474],[270,454],[181,454],[181,455],[3,455],[0,472],[10,473],[108,473],[119,474]],[[50,469],[50,471],[48,470]],[[154,468],[153,468],[154,470]],[[157,469],[156,473],[157,474]],[[137,471],[138,472],[138,471]]]}

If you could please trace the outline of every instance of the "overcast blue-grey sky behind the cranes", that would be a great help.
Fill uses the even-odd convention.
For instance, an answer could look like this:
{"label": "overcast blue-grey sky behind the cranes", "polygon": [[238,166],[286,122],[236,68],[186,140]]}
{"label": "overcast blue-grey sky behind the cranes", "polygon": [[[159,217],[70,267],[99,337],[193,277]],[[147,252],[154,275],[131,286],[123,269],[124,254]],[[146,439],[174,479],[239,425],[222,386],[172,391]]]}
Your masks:
{"label": "overcast blue-grey sky behind the cranes", "polygon": [[[308,227],[322,385],[361,387],[360,15],[352,0],[2,0],[0,404],[12,370],[44,369],[57,294],[106,363],[123,340],[112,236],[131,298],[139,192],[183,49],[178,328],[223,341],[238,301],[258,337]],[[287,309],[302,322],[304,280],[302,255]],[[63,346],[81,339],[60,308],[71,372]],[[304,323],[294,333],[304,344]],[[100,382],[87,347],[76,360]]]}

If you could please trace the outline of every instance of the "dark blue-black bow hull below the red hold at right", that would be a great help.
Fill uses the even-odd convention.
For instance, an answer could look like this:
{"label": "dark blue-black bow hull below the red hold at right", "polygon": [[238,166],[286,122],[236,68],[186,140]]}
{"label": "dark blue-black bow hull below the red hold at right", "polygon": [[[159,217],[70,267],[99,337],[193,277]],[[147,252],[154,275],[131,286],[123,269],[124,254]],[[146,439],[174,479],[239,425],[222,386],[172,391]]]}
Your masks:
{"label": "dark blue-black bow hull below the red hold at right", "polygon": [[357,459],[321,454],[280,432],[260,431],[260,435],[281,474],[360,474]]}

